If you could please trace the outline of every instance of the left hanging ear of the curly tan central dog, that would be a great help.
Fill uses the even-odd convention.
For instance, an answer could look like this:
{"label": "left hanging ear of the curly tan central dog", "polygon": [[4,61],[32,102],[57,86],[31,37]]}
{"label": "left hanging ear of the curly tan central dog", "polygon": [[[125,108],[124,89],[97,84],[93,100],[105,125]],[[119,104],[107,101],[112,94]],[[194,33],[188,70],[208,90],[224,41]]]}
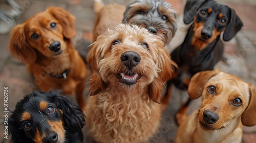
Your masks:
{"label": "left hanging ear of the curly tan central dog", "polygon": [[92,75],[89,78],[89,91],[90,96],[93,96],[100,91],[103,91],[106,88],[106,83],[102,80],[99,69],[98,69],[98,61],[101,59],[101,46],[104,46],[105,36],[99,36],[98,39],[89,45],[88,47],[88,54],[87,54],[87,63],[92,70]]}

